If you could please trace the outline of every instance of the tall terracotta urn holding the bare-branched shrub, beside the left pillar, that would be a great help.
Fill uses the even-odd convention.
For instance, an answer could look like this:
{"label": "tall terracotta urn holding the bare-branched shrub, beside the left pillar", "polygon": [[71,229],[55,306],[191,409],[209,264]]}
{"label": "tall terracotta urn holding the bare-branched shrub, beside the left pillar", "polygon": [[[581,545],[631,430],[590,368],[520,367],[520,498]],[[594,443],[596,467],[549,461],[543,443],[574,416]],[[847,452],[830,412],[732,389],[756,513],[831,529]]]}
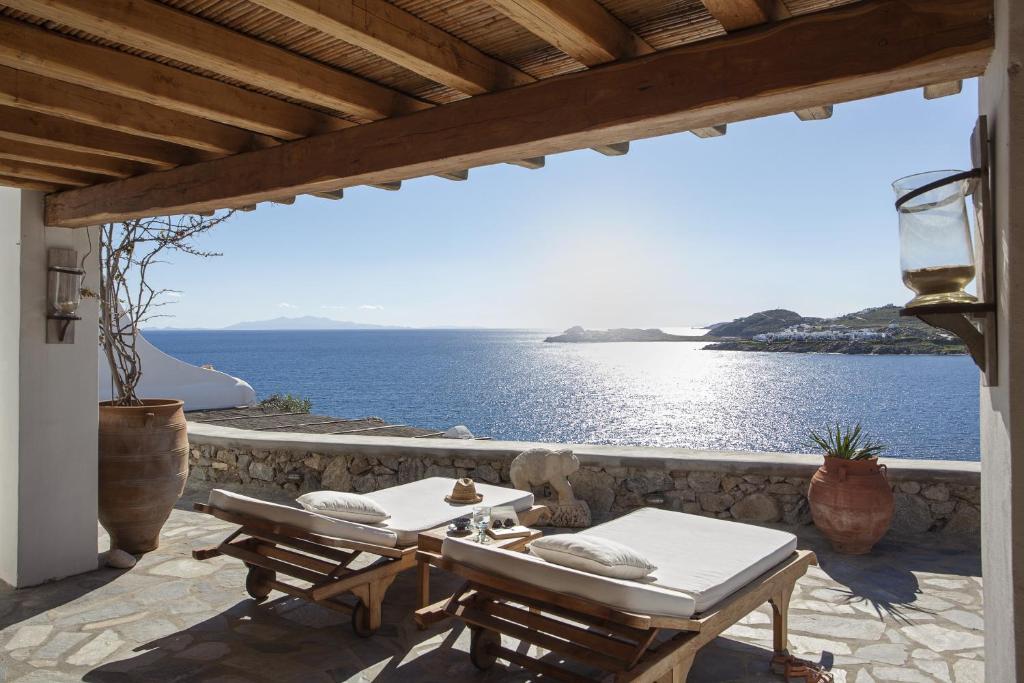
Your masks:
{"label": "tall terracotta urn holding the bare-branched shrub, beside the left pillar", "polygon": [[99,403],[99,523],[112,550],[133,555],[160,545],[160,529],[188,477],[183,401]]}

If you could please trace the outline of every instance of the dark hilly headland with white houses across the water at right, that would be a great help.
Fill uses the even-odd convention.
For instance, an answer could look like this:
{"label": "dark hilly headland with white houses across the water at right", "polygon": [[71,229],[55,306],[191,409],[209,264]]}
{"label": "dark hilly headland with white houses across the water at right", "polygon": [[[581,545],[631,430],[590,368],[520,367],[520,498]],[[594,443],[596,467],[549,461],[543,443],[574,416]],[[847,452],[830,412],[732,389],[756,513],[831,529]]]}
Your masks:
{"label": "dark hilly headland with white houses across the water at right", "polygon": [[792,310],[763,310],[708,327],[707,336],[671,335],[662,330],[584,330],[569,328],[546,342],[711,342],[705,350],[784,351],[791,353],[854,353],[953,355],[965,353],[954,337],[915,317],[902,317],[899,306],[864,308],[838,317],[808,317]]}

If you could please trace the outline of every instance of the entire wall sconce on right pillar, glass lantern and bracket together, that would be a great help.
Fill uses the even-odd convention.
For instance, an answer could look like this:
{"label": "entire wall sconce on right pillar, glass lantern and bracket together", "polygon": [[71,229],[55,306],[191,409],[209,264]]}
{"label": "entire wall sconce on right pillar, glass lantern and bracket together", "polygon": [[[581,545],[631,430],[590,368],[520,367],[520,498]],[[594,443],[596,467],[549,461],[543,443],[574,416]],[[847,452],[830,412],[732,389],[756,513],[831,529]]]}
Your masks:
{"label": "entire wall sconce on right pillar, glass lantern and bracket together", "polygon": [[[998,379],[995,331],[995,221],[986,117],[971,135],[970,171],[922,173],[893,183],[900,219],[903,283],[916,296],[900,311],[952,333],[967,346],[986,386]],[[975,209],[976,240],[965,198]],[[978,276],[978,297],[964,292]]]}

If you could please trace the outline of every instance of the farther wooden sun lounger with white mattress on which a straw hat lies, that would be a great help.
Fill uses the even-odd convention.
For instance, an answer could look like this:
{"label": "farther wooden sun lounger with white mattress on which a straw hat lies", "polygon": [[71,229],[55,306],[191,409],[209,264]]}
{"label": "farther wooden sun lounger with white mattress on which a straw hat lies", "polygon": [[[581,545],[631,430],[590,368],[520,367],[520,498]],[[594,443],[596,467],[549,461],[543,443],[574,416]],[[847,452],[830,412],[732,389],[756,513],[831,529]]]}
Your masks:
{"label": "farther wooden sun lounger with white mattress on which a straw hat lies", "polygon": [[[262,600],[278,590],[311,602],[350,612],[352,628],[370,636],[381,625],[384,595],[397,574],[416,565],[416,542],[421,531],[446,525],[470,514],[471,505],[444,502],[454,479],[431,477],[367,494],[391,515],[379,524],[334,519],[287,505],[213,489],[196,510],[239,524],[215,548],[196,550],[204,560],[228,555],[246,563],[246,590]],[[536,523],[546,510],[534,505],[527,492],[476,484],[481,505],[512,506],[523,523]],[[373,561],[351,568],[360,555]],[[281,577],[301,582],[286,583]],[[342,600],[346,594],[356,600]]]}

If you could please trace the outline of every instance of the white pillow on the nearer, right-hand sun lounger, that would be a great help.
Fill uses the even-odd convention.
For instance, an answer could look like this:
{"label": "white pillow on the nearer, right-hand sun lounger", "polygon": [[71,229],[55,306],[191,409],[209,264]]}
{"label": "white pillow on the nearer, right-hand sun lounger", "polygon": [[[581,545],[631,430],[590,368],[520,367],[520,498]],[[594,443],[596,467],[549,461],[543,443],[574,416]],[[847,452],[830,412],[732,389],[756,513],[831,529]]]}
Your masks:
{"label": "white pillow on the nearer, right-hand sun lounger", "polygon": [[580,533],[546,536],[529,544],[529,552],[553,564],[612,579],[643,579],[657,568],[629,546]]}

